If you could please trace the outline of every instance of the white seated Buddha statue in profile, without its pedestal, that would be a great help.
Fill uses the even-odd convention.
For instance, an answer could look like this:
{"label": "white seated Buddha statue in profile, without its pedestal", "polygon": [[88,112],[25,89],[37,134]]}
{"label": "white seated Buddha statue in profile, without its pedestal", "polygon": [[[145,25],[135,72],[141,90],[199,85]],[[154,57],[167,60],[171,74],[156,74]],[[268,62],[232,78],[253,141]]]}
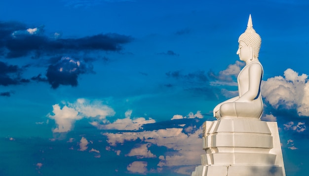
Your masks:
{"label": "white seated Buddha statue in profile, without its pedestal", "polygon": [[235,117],[259,119],[263,112],[260,93],[263,67],[258,59],[261,37],[253,29],[251,15],[247,29],[239,36],[238,43],[236,54],[246,63],[237,77],[239,96],[222,102],[214,108],[214,117],[217,119]]}

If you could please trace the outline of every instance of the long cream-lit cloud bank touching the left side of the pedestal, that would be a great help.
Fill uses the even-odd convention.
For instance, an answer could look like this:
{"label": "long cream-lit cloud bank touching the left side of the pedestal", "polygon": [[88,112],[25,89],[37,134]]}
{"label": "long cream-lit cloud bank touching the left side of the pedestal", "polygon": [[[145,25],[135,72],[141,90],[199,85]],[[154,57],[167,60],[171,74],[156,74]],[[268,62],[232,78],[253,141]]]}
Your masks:
{"label": "long cream-lit cloud bank touching the left side of the pedestal", "polygon": [[[193,134],[185,134],[182,128],[168,128],[159,129],[154,131],[144,132],[122,132],[122,133],[104,133],[107,136],[108,142],[111,146],[117,144],[124,144],[126,141],[141,140],[157,146],[165,146],[169,149],[173,149],[175,152],[166,153],[165,157],[160,156],[159,167],[179,167],[179,166],[192,166],[192,169],[196,165],[200,164],[200,155],[203,154],[201,149],[202,140],[199,135],[202,133],[202,129],[196,130]],[[143,155],[149,156],[146,150],[146,146],[142,145],[140,150],[143,151]],[[135,154],[137,150],[133,150]],[[132,155],[133,155],[132,151]]]}

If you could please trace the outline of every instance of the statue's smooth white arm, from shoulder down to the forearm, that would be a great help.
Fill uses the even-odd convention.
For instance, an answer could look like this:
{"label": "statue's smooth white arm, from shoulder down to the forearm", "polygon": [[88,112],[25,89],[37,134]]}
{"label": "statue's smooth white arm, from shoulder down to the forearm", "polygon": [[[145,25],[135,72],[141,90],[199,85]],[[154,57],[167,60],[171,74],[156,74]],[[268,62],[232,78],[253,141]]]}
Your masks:
{"label": "statue's smooth white arm, from shoulder down to the forearm", "polygon": [[256,97],[259,96],[260,93],[260,84],[262,79],[263,70],[260,64],[253,63],[249,69],[249,88],[248,91],[245,92],[239,99],[235,102],[251,102]]}

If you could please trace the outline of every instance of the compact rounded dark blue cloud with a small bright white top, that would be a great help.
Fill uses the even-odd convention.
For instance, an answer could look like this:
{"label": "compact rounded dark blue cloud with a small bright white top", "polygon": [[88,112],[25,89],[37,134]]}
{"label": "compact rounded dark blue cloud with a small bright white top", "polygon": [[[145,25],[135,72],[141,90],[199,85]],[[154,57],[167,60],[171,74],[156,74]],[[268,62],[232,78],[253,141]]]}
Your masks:
{"label": "compact rounded dark blue cloud with a small bright white top", "polygon": [[[49,65],[46,77],[53,89],[58,88],[59,85],[71,85],[74,87],[78,84],[78,76],[88,72],[93,72],[91,64],[86,64],[71,57],[62,57],[56,64]],[[40,75],[32,79],[46,81]]]}

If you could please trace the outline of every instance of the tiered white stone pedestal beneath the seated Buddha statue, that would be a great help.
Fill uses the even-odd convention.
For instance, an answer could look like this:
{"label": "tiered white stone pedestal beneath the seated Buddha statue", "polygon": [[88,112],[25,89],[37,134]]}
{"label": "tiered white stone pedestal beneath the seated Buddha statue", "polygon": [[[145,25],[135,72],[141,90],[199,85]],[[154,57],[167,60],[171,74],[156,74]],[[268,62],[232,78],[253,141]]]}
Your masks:
{"label": "tiered white stone pedestal beneath the seated Buddha statue", "polygon": [[203,124],[202,165],[192,176],[285,176],[276,122],[221,118]]}

